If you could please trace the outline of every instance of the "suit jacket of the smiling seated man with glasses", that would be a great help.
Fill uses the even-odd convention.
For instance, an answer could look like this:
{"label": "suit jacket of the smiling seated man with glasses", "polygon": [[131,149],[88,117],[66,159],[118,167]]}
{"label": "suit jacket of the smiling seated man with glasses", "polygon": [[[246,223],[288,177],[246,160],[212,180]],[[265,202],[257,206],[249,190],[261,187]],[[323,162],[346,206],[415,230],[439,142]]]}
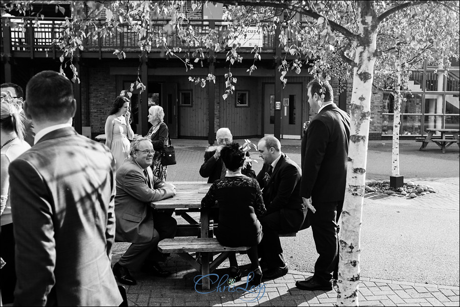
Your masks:
{"label": "suit jacket of the smiling seated man with glasses", "polygon": [[144,170],[132,157],[126,159],[117,170],[117,196],[115,197],[115,215],[117,241],[145,243],[153,238],[152,201],[172,197],[174,191],[160,187],[165,183],[153,176],[147,168],[150,188],[144,176]]}

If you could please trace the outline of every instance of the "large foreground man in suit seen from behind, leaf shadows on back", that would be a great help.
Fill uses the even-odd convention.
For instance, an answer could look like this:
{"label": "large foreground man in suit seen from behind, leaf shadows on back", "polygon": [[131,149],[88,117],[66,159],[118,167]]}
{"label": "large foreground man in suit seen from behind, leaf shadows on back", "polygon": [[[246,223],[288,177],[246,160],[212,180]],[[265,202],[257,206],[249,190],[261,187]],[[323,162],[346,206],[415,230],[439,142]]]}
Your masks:
{"label": "large foreground man in suit seen from behind, leaf shadows on back", "polygon": [[35,145],[11,162],[16,306],[116,306],[110,271],[115,164],[110,150],[72,128],[72,83],[50,70],[27,84]]}

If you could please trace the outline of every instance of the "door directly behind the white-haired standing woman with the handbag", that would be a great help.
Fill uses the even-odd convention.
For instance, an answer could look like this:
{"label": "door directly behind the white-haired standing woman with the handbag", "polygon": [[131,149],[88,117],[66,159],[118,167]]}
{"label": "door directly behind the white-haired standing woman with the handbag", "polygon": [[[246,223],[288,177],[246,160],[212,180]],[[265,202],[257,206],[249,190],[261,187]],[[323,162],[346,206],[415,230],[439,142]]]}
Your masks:
{"label": "door directly behind the white-haired standing woman with the handbag", "polygon": [[162,84],[162,107],[165,111],[164,122],[168,125],[171,138],[177,138],[177,84]]}

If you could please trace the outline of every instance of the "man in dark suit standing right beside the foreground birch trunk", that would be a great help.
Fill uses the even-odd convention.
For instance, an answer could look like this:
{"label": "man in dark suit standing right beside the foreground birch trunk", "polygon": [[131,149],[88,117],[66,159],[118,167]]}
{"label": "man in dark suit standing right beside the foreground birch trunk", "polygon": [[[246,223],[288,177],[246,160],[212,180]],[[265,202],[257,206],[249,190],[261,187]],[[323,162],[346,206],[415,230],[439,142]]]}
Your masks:
{"label": "man in dark suit standing right beside the foreground birch trunk", "polygon": [[[307,85],[308,102],[317,115],[308,127],[301,196],[309,212],[313,239],[319,256],[309,280],[297,281],[303,290],[332,290],[338,270],[337,222],[347,179],[350,116],[332,101],[332,87],[326,80]],[[337,278],[336,276],[334,276]]]}

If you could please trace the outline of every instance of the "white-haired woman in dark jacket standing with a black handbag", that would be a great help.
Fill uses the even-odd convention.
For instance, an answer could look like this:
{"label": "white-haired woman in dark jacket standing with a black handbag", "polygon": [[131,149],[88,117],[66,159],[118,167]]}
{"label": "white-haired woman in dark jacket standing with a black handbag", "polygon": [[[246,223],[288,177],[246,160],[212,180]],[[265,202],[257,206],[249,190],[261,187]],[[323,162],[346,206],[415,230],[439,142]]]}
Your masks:
{"label": "white-haired woman in dark jacket standing with a black handbag", "polygon": [[162,181],[166,181],[166,166],[162,165],[162,160],[159,151],[163,149],[169,140],[168,126],[163,122],[165,112],[160,106],[151,106],[149,108],[149,123],[152,124],[148,138],[152,141],[155,157],[153,158],[152,171],[155,177]]}

